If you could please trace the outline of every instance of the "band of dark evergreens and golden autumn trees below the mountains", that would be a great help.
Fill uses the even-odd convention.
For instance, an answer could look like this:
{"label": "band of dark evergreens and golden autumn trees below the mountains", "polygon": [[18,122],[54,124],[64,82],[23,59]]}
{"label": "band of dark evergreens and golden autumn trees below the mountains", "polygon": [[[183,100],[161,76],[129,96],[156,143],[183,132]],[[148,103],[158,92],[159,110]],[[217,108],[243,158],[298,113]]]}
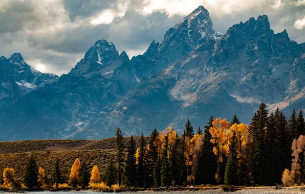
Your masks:
{"label": "band of dark evergreens and golden autumn trees below the mountains", "polygon": [[[121,187],[176,187],[189,185],[300,185],[305,182],[305,122],[302,110],[288,118],[278,109],[268,112],[262,103],[251,123],[210,117],[202,129],[194,130],[187,120],[181,136],[168,127],[123,141],[115,131],[116,157],[111,157],[102,175],[97,165],[89,168],[76,158],[69,175],[62,175],[57,158],[51,173],[28,158],[23,177],[5,168],[2,188],[22,190],[45,188],[119,189]],[[103,176],[103,179],[101,177]]]}

